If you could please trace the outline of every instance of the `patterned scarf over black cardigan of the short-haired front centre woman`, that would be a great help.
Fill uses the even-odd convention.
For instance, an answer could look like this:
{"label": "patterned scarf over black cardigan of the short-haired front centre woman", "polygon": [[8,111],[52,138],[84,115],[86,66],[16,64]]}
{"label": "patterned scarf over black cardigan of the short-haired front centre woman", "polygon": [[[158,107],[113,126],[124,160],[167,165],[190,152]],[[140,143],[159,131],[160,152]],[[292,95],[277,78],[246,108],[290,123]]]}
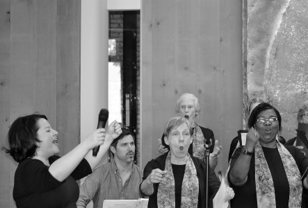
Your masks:
{"label": "patterned scarf over black cardigan of the short-haired front centre woman", "polygon": [[[193,159],[188,155],[184,178],[181,186],[181,207],[197,207],[199,196],[199,180]],[[157,193],[157,205],[159,208],[175,207],[175,177],[170,162],[170,151],[165,159],[165,171],[168,174],[163,177]]]}

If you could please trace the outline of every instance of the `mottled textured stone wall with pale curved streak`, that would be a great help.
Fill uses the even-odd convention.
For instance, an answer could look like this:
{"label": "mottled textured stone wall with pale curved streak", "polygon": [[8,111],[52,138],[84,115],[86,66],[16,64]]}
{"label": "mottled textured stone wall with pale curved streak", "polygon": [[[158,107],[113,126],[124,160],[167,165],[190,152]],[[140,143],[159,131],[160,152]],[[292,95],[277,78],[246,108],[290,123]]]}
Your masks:
{"label": "mottled textured stone wall with pale curved streak", "polygon": [[282,136],[291,139],[308,92],[308,1],[248,0],[243,21],[248,97],[266,98],[277,107]]}

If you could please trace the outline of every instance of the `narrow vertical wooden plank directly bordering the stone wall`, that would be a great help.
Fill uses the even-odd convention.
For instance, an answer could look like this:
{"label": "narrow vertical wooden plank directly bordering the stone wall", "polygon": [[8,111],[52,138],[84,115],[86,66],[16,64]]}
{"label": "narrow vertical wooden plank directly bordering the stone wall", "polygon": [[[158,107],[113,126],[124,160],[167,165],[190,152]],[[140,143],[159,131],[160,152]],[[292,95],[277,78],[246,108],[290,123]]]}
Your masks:
{"label": "narrow vertical wooden plank directly bordering the stone wall", "polygon": [[[227,168],[226,159],[230,142],[237,136],[243,115],[243,71],[242,71],[242,0],[220,1],[220,76],[221,76],[221,157],[222,170]],[[236,113],[233,113],[236,112]],[[221,161],[220,161],[221,162]]]}

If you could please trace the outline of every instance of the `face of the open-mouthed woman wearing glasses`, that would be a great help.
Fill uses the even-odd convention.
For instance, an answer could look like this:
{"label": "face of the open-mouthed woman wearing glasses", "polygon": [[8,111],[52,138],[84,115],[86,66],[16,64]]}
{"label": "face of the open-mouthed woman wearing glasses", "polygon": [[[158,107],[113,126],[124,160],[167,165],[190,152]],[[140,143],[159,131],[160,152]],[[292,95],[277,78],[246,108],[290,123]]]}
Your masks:
{"label": "face of the open-mouthed woman wearing glasses", "polygon": [[255,128],[260,135],[260,142],[269,144],[276,139],[276,135],[279,128],[279,121],[277,120],[277,114],[273,109],[264,110],[259,113],[257,119],[270,119],[276,118],[276,121],[270,122],[268,120],[265,123],[259,123],[256,121]]}

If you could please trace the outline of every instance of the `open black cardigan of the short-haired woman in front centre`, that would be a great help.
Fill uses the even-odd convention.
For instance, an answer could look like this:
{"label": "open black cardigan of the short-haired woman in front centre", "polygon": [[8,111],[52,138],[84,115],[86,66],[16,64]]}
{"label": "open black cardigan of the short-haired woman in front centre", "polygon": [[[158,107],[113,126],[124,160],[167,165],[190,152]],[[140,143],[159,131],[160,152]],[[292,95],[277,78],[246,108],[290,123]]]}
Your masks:
{"label": "open black cardigan of the short-haired woman in front centre", "polygon": [[[143,180],[147,179],[147,176],[151,174],[152,170],[159,168],[162,171],[165,170],[165,159],[168,153],[157,157],[156,159],[152,159],[147,163],[145,169],[143,171]],[[197,171],[197,177],[199,180],[199,197],[198,197],[198,208],[205,207],[205,186],[206,186],[206,164],[204,161],[197,157],[191,156],[193,159],[193,164],[195,164],[195,168]],[[149,203],[147,207],[157,207],[157,191],[159,190],[159,184],[153,184],[154,191],[151,196],[149,196]],[[220,187],[220,182],[218,182],[218,178],[216,177],[215,172],[212,168],[209,168],[209,207],[213,207],[213,198],[216,195],[218,189]]]}

